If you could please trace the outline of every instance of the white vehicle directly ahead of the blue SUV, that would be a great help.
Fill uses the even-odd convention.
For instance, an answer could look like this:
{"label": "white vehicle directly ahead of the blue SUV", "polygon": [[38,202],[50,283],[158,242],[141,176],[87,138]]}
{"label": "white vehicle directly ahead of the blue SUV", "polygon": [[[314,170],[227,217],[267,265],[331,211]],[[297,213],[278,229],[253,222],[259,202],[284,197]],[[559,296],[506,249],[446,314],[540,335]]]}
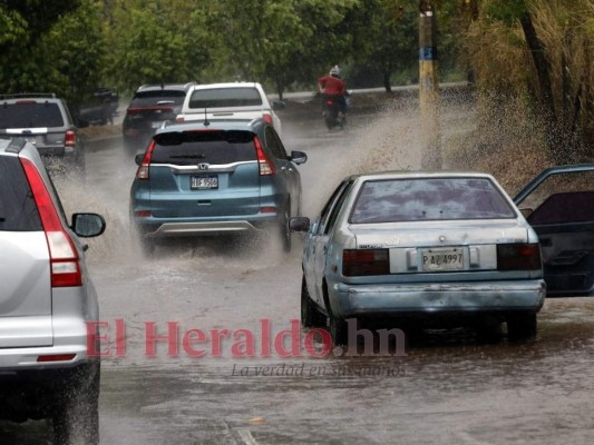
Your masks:
{"label": "white vehicle directly ahead of the blue SUV", "polygon": [[260,83],[211,83],[189,88],[177,115],[177,122],[189,120],[252,120],[264,118],[281,134],[281,119],[275,110],[284,102],[271,102]]}

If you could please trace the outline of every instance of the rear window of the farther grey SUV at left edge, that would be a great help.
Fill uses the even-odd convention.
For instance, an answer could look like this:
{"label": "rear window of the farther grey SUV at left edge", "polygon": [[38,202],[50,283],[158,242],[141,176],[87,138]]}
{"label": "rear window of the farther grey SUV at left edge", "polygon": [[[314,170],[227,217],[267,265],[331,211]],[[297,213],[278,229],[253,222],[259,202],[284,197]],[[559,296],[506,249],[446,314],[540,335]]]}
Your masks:
{"label": "rear window of the farther grey SUV at left edge", "polygon": [[0,103],[0,128],[64,127],[62,113],[55,102],[22,100]]}

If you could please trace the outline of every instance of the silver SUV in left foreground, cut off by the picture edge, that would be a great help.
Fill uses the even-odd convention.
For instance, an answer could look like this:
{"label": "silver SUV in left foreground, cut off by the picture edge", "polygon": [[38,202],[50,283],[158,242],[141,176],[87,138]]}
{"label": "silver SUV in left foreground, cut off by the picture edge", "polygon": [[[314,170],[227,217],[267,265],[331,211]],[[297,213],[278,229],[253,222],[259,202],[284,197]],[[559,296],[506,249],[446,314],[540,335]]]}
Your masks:
{"label": "silver SUV in left foreground, cut off by the picture edge", "polygon": [[51,418],[55,444],[99,442],[99,309],[78,237],[104,230],[95,214],[68,224],[35,147],[0,139],[0,418]]}

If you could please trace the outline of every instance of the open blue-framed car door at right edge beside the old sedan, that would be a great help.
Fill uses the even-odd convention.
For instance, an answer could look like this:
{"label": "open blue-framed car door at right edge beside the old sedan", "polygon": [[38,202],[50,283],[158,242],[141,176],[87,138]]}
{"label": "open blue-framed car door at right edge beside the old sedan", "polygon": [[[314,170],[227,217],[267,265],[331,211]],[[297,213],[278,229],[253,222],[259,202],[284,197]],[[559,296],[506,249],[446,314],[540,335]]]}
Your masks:
{"label": "open blue-framed car door at right edge beside the old sedan", "polygon": [[594,164],[551,167],[514,201],[538,235],[547,296],[594,294]]}

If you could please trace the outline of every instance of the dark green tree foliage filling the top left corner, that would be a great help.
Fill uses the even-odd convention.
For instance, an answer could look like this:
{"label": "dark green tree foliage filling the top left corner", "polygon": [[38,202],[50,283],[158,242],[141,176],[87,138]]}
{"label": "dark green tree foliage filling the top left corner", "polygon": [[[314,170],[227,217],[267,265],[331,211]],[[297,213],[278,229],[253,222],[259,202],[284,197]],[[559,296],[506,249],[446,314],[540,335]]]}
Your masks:
{"label": "dark green tree foliage filling the top left corner", "polygon": [[56,92],[74,105],[97,87],[105,50],[99,2],[14,1],[0,7],[2,92]]}

